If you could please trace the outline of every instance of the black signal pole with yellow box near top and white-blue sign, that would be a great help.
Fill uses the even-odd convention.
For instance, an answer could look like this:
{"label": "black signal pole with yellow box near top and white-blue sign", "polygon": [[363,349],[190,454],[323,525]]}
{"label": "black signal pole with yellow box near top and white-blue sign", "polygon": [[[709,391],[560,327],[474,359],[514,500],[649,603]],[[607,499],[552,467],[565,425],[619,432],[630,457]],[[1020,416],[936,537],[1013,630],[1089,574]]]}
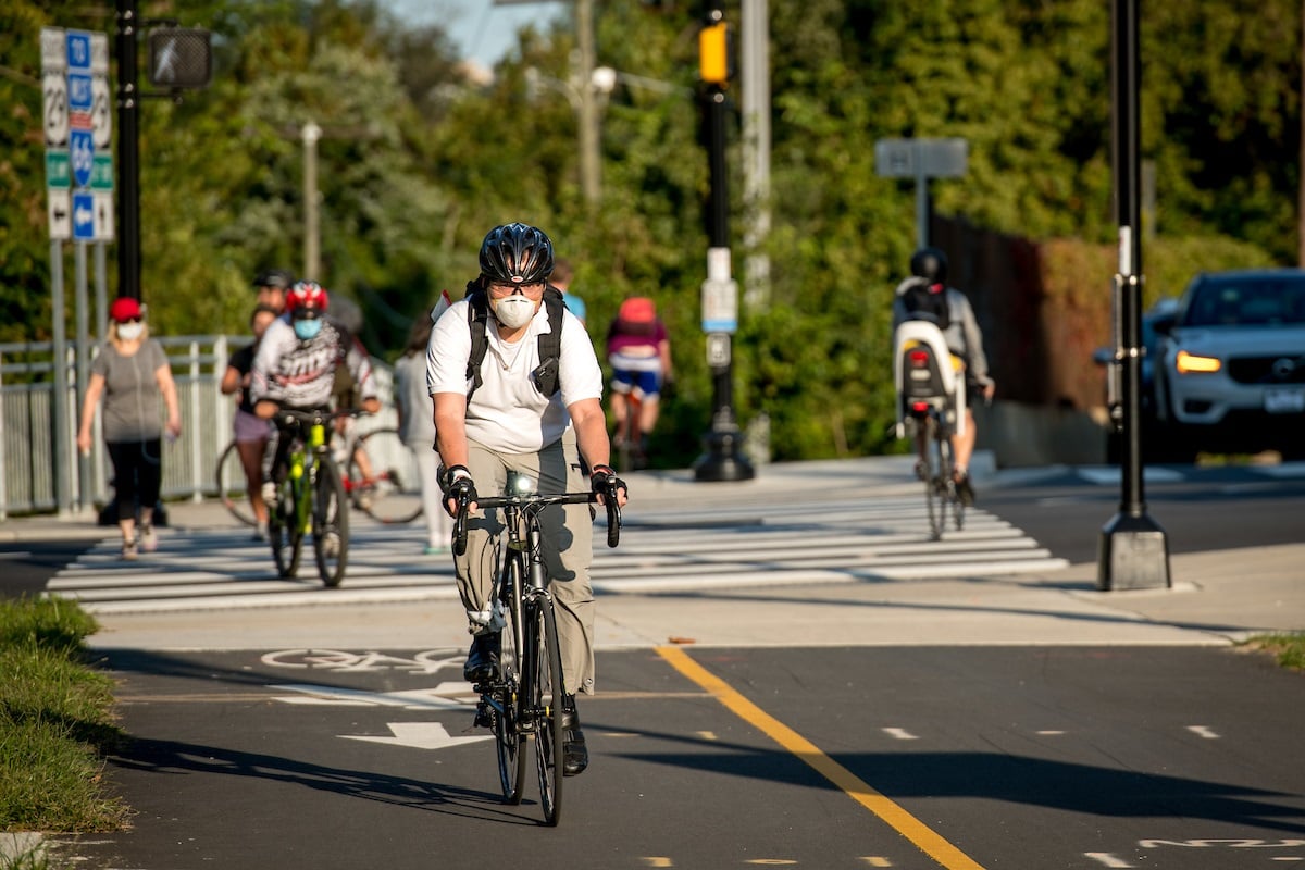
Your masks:
{"label": "black signal pole with yellow box near top and white-blue sign", "polygon": [[731,335],[739,329],[739,284],[729,266],[729,194],[726,184],[726,87],[729,83],[729,31],[720,0],[706,0],[698,34],[702,78],[702,127],[711,167],[707,203],[707,279],[702,282],[702,330],[707,334],[711,369],[711,430],[707,453],[693,464],[696,480],[752,480],[752,464],[740,453],[741,437],[733,412],[733,352]]}

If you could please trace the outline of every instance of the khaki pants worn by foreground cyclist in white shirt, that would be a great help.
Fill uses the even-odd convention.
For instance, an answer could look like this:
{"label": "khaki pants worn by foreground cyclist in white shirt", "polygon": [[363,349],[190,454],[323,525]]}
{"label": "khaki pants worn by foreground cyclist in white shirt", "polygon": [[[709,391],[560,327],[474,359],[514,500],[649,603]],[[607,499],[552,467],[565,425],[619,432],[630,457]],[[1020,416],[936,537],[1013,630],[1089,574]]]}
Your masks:
{"label": "khaki pants worn by foreground cyclist in white shirt", "polygon": [[[538,492],[553,496],[585,492],[589,479],[581,471],[576,434],[568,432],[538,454],[501,454],[467,442],[467,471],[482,496],[500,496],[508,471],[529,475]],[[544,567],[557,614],[562,676],[570,693],[594,691],[594,588],[589,566],[594,560],[594,509],[590,505],[553,505],[539,517],[544,536]],[[489,630],[489,600],[496,573],[499,537],[505,535],[502,514],[479,511],[467,519],[467,552],[454,558],[458,593],[467,610],[467,630]]]}

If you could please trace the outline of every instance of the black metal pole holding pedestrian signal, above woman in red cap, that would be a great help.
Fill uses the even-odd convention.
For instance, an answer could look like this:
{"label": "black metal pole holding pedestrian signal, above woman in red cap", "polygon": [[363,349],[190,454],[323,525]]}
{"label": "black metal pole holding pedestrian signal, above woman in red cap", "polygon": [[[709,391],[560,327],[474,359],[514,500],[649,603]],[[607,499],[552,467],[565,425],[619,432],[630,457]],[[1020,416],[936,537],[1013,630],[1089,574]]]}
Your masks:
{"label": "black metal pole holding pedestrian signal, above woman in red cap", "polygon": [[117,295],[141,297],[140,76],[136,0],[117,0]]}

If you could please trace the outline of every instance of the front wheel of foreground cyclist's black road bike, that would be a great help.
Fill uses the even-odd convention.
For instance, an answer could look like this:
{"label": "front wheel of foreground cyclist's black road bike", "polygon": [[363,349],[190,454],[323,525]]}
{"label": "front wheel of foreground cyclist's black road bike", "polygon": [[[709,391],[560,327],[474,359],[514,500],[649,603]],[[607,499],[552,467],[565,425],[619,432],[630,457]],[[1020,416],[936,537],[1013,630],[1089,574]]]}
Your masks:
{"label": "front wheel of foreground cyclist's black road bike", "polygon": [[562,810],[562,655],[557,643],[557,617],[553,601],[539,595],[532,604],[535,634],[535,678],[531,707],[535,719],[535,763],[539,771],[539,803],[544,822],[557,824]]}

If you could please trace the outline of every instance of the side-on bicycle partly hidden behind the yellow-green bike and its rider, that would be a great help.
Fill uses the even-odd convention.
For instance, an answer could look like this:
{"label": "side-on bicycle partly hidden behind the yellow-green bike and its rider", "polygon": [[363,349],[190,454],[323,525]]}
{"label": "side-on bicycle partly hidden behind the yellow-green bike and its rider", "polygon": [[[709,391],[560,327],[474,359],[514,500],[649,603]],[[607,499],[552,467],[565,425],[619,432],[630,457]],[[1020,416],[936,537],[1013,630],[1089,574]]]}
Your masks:
{"label": "side-on bicycle partly hidden behind the yellow-green bike and its rider", "polygon": [[[411,523],[422,514],[422,481],[416,470],[416,457],[399,438],[398,429],[373,429],[355,440],[342,463],[345,494],[354,507],[358,507],[378,523]],[[364,473],[363,462],[369,463],[371,475]],[[244,466],[240,464],[240,451],[231,441],[218,458],[217,467],[218,498],[239,522],[256,526],[253,509],[249,506]]]}

